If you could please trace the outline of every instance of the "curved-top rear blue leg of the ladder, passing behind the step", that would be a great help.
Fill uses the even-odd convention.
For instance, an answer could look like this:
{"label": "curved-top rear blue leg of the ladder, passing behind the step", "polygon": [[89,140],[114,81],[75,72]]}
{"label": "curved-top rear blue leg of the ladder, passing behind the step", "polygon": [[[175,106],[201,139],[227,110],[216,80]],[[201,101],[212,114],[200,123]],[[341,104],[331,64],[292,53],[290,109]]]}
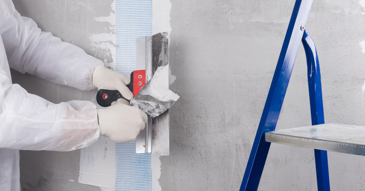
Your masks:
{"label": "curved-top rear blue leg of the ladder, passing behind the step", "polygon": [[[302,43],[307,57],[308,88],[311,106],[312,125],[324,124],[322,85],[316,47],[313,39],[304,30]],[[330,190],[330,178],[328,173],[327,151],[314,149],[317,187],[319,191]]]}

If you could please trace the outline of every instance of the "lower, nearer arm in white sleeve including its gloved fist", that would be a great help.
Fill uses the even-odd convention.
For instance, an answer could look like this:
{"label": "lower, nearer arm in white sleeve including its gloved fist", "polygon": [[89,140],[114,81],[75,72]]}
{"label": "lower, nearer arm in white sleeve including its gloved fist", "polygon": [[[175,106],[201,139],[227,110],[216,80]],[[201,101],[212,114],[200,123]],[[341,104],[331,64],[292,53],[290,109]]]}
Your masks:
{"label": "lower, nearer arm in white sleeve including its gloved fist", "polygon": [[[0,65],[6,64],[0,46]],[[96,110],[89,101],[54,104],[11,84],[0,67],[0,148],[69,151],[91,145],[99,135],[131,142],[147,115],[122,103]]]}

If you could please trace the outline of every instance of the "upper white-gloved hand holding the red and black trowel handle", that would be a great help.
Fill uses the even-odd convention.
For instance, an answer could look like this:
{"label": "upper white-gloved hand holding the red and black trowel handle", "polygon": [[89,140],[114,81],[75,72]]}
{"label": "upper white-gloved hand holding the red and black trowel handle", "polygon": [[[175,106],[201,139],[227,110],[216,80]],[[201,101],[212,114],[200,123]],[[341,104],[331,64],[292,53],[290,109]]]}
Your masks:
{"label": "upper white-gloved hand holding the red and black trowel handle", "polygon": [[131,100],[133,93],[126,86],[130,83],[129,76],[122,73],[97,66],[92,74],[92,83],[98,89],[118,90],[122,96]]}

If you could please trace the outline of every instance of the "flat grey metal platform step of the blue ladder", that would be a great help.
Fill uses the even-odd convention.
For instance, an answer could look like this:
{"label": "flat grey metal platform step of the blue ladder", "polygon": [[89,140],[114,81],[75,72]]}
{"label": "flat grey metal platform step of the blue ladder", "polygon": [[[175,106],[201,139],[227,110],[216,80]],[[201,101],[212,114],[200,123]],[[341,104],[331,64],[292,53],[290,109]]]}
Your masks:
{"label": "flat grey metal platform step of the blue ladder", "polygon": [[365,127],[327,123],[265,133],[267,142],[365,156]]}

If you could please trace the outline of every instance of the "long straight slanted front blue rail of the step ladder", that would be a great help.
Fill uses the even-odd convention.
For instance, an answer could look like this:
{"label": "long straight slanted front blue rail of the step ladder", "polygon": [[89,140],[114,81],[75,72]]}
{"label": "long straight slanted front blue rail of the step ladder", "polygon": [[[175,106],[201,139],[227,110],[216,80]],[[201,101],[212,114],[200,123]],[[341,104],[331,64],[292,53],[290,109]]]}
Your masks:
{"label": "long straight slanted front blue rail of the step ladder", "polygon": [[270,85],[268,97],[262,112],[250,157],[243,175],[240,191],[257,190],[264,169],[270,142],[265,141],[265,132],[275,130],[276,123],[283,105],[284,96],[299,50],[303,30],[301,26],[307,23],[313,0],[296,0],[293,13],[285,34],[283,47]]}

